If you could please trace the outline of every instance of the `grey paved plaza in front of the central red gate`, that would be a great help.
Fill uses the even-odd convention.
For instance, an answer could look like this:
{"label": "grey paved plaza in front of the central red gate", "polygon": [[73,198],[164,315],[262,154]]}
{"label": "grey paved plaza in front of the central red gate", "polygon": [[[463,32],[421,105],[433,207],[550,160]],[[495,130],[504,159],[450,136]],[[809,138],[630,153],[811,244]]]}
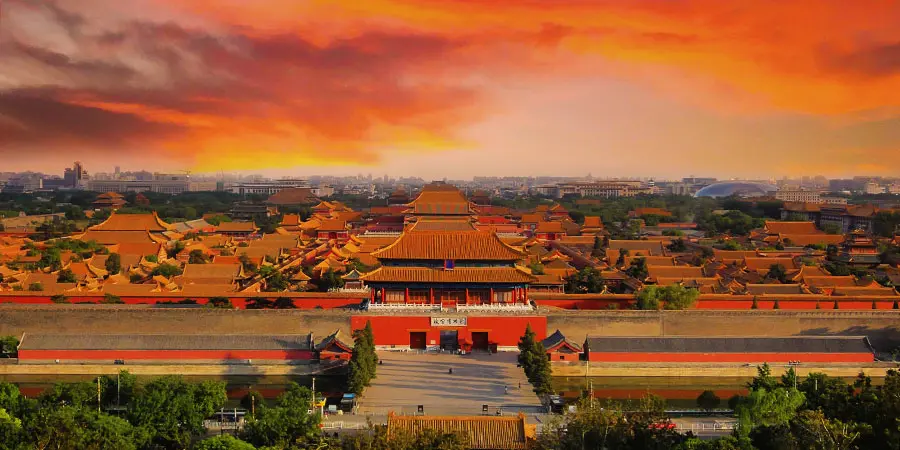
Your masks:
{"label": "grey paved plaza in front of the central red gate", "polygon": [[418,405],[428,415],[478,415],[484,404],[489,405],[490,414],[496,414],[498,407],[503,414],[541,410],[525,373],[516,367],[514,352],[379,352],[378,357],[384,364],[378,366],[378,378],[360,401],[360,414],[415,414]]}

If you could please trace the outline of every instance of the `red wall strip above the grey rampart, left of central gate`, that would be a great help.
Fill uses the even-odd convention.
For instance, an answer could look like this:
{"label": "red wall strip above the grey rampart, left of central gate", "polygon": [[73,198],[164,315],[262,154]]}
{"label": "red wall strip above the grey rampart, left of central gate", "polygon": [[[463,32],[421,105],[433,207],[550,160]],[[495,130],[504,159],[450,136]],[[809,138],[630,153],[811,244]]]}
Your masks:
{"label": "red wall strip above the grey rampart, left of central gate", "polygon": [[[247,300],[253,297],[259,298],[268,298],[269,300],[275,300],[282,295],[271,295],[271,293],[260,293],[259,295],[251,295],[251,296],[241,296],[241,297],[226,297],[231,300],[231,304],[234,305],[235,308],[245,309],[247,307]],[[357,306],[363,302],[362,297],[329,297],[323,295],[321,297],[318,296],[303,296],[303,297],[291,297],[289,295],[285,295],[284,297],[290,297],[294,300],[294,306],[299,309],[332,309],[332,308],[346,308],[349,306]],[[157,303],[168,303],[173,302],[177,303],[181,300],[192,299],[196,300],[198,305],[205,305],[209,302],[209,297],[196,297],[196,296],[122,296],[120,297],[122,302],[126,305],[155,305]],[[66,296],[66,301],[68,303],[102,303],[103,296],[97,295],[72,295]],[[50,300],[49,295],[2,295],[0,296],[0,303],[18,303],[18,304],[41,304],[41,305],[49,305],[52,304],[53,301]]]}

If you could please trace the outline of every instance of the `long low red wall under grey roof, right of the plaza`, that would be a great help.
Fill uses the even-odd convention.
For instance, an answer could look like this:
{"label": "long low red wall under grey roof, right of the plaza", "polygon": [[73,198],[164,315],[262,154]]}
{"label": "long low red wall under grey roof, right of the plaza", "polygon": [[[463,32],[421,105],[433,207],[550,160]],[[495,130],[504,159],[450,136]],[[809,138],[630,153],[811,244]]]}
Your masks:
{"label": "long low red wall under grey roof, right of the plaza", "polygon": [[722,362],[787,363],[790,361],[832,363],[872,362],[871,353],[620,353],[591,352],[591,362]]}

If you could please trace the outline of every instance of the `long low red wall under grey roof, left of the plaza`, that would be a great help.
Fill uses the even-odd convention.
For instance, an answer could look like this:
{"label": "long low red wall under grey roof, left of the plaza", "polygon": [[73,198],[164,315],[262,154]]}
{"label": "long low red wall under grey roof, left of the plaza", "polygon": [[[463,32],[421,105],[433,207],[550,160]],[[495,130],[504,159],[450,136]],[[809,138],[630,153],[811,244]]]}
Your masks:
{"label": "long low red wall under grey roof, left of the plaza", "polygon": [[310,360],[309,350],[20,350],[21,360]]}

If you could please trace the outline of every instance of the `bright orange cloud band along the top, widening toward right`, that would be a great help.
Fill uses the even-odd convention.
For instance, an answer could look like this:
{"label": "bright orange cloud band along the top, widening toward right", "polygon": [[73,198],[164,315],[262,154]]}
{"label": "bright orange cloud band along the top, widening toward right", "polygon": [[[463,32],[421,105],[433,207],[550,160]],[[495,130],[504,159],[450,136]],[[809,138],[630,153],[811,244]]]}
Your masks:
{"label": "bright orange cloud band along the top, widening toward right", "polygon": [[[504,58],[510,45],[532,47],[536,54],[561,48],[632,64],[655,86],[673,83],[654,80],[649,68],[661,78],[693,78],[688,87],[704,95],[725,91],[717,83],[730,86],[729,95],[708,104],[753,100],[814,114],[900,105],[900,3],[890,0],[852,7],[843,0],[276,1],[224,7],[207,0],[188,7],[260,33],[303,30],[319,42],[370,29],[413,30],[469,39],[491,49],[498,63],[511,63]],[[535,45],[541,37],[559,47]],[[563,64],[553,70],[567,70],[564,58],[558,61]]]}

